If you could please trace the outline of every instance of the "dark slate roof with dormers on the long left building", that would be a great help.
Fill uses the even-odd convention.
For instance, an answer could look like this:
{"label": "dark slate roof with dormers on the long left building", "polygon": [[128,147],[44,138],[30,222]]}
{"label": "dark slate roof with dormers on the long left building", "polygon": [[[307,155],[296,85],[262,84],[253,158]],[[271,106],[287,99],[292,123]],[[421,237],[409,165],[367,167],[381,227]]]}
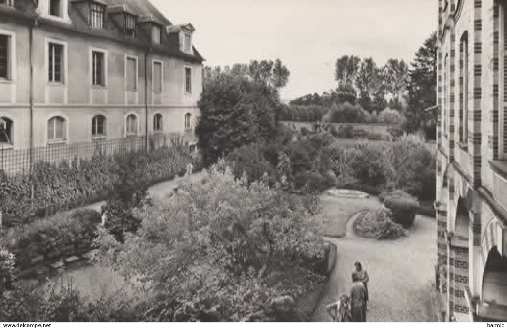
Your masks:
{"label": "dark slate roof with dormers on the long left building", "polygon": [[[81,12],[78,6],[78,3],[83,1],[87,2],[88,0],[69,0],[68,15],[70,18],[70,24],[41,17],[37,13],[37,4],[35,4],[34,0],[15,0],[14,8],[0,5],[0,15],[9,15],[12,17],[27,19],[31,21],[37,20],[41,24],[87,33],[99,38],[111,39],[129,46],[151,47],[153,52],[182,58],[190,62],[201,63],[204,61],[204,58],[202,58],[195,47],[193,48],[193,54],[187,54],[179,49],[178,38],[175,38],[174,35],[168,34],[166,29],[166,26],[173,24],[157,8],[155,8],[155,6],[153,6],[149,0],[93,1],[105,4],[107,5],[107,8],[122,6],[126,9],[126,11],[131,12],[136,16],[142,17],[143,19],[141,19],[141,21],[146,20],[160,24],[162,27],[162,33],[165,35],[165,37],[162,38],[163,42],[161,45],[153,45],[151,43],[151,35],[144,33],[141,28],[137,29],[137,35],[135,39],[126,37],[122,28],[111,19],[110,12],[106,12],[104,27],[102,29],[92,28],[88,22],[88,18],[85,17],[84,13]],[[146,16],[150,16],[150,18],[148,19]]]}

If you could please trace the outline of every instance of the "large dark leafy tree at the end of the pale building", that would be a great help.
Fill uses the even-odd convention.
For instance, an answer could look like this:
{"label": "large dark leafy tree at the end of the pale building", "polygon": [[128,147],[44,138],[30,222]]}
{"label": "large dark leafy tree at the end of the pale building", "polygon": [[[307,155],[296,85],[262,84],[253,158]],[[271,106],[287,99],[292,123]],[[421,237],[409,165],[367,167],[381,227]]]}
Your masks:
{"label": "large dark leafy tree at the end of the pale building", "polygon": [[206,164],[278,133],[278,89],[285,86],[288,76],[279,60],[205,69],[196,132]]}

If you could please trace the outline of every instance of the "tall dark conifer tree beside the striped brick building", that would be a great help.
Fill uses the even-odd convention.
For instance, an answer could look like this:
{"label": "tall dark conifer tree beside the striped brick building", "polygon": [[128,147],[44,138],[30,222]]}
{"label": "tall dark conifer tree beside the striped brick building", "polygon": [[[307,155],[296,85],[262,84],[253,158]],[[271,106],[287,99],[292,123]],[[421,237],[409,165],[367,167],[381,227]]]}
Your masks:
{"label": "tall dark conifer tree beside the striped brick building", "polygon": [[433,32],[424,45],[415,53],[408,79],[407,131],[424,128],[429,137],[434,137],[437,112],[424,110],[437,103],[437,33]]}

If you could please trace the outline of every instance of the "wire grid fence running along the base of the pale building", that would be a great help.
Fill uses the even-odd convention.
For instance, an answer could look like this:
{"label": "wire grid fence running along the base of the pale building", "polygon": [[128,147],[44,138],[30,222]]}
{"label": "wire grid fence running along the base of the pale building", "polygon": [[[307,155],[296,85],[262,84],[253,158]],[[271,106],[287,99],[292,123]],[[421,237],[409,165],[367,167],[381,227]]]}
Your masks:
{"label": "wire grid fence running along the base of the pale building", "polygon": [[127,152],[153,151],[164,146],[185,143],[181,133],[133,136],[118,139],[93,139],[77,142],[52,143],[31,149],[2,148],[0,145],[0,171],[7,175],[29,174],[35,163],[71,162],[90,160],[94,156],[111,156]]}

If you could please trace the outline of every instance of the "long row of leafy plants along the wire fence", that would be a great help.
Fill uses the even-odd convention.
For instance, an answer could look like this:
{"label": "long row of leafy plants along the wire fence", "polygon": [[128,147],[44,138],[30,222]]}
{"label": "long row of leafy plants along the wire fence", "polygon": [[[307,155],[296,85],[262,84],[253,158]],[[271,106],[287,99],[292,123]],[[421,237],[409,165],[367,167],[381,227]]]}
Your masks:
{"label": "long row of leafy plants along the wire fence", "polygon": [[10,177],[0,170],[3,224],[13,227],[107,198],[126,157],[142,168],[142,179],[151,185],[185,173],[187,165],[195,162],[183,145],[176,145],[150,152],[75,159],[71,163],[40,162],[34,165],[30,176]]}

